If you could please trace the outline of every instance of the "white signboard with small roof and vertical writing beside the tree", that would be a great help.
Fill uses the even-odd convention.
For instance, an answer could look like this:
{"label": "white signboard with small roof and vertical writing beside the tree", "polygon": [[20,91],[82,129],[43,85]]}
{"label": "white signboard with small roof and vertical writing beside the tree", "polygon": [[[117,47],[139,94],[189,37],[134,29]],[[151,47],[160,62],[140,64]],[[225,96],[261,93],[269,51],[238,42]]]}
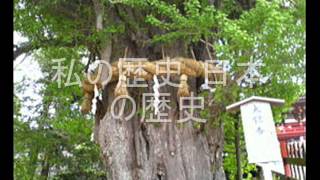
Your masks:
{"label": "white signboard with small roof and vertical writing beside the tree", "polygon": [[240,109],[249,163],[262,167],[265,180],[272,180],[272,171],[284,174],[271,110],[283,104],[282,99],[252,96],[227,106],[229,112]]}

